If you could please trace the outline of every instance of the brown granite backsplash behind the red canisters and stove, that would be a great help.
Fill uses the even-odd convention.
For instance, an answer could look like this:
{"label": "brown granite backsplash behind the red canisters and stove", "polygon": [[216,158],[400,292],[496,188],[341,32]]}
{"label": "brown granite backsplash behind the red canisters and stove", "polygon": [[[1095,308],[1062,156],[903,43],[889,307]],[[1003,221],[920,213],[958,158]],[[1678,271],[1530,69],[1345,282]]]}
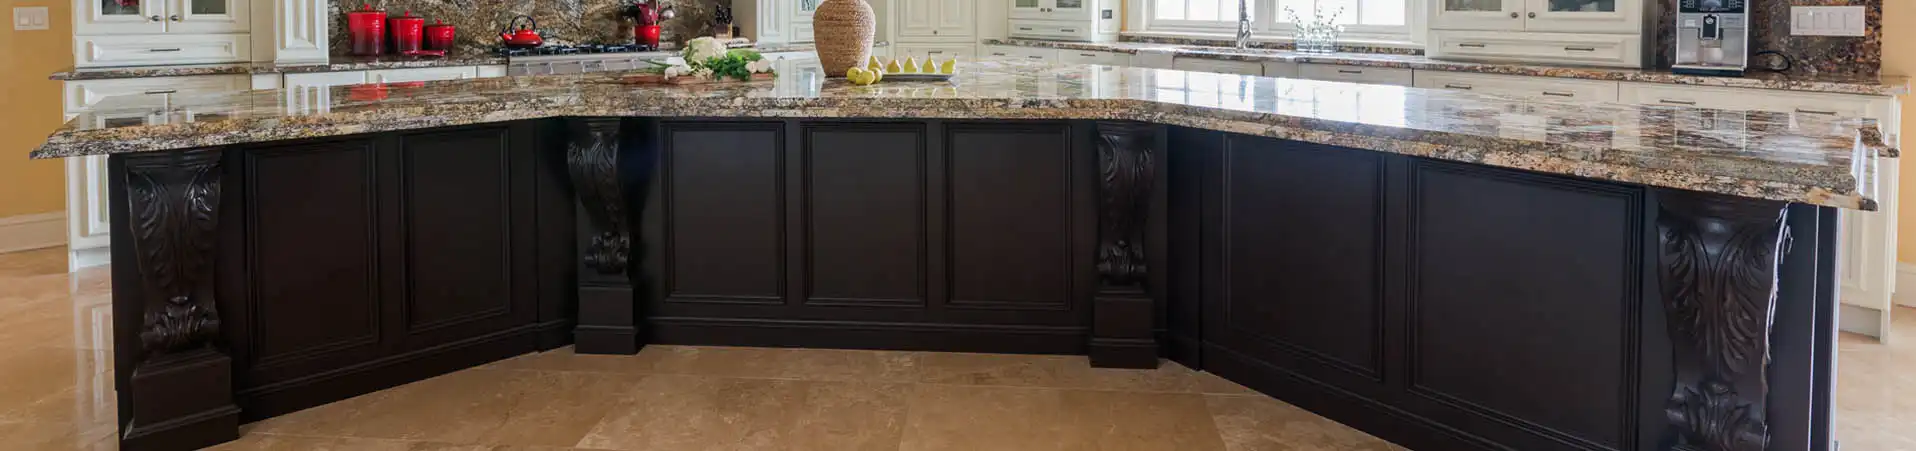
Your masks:
{"label": "brown granite backsplash behind the red canisters and stove", "polygon": [[[540,35],[554,44],[600,44],[632,42],[632,19],[619,15],[619,10],[632,0],[328,0],[331,8],[331,48],[335,56],[345,56],[353,48],[347,33],[345,12],[362,4],[385,10],[389,17],[412,12],[458,27],[458,54],[487,54],[498,46],[498,33],[517,15],[531,15],[538,21]],[[665,0],[678,17],[665,21],[663,42],[684,42],[694,36],[713,35],[713,15],[720,4],[730,0]]]}

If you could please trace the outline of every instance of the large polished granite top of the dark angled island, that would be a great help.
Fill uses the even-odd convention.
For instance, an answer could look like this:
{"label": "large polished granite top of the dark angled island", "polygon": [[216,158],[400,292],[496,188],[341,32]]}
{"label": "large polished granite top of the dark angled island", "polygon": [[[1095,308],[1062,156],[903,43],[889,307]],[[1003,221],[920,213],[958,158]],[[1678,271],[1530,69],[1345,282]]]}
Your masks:
{"label": "large polished granite top of the dark angled island", "polygon": [[619,73],[333,86],[330,104],[282,90],[176,96],[171,111],[195,121],[167,125],[140,121],[153,113],[149,104],[109,98],[56,131],[33,157],[542,117],[1115,119],[1876,209],[1878,159],[1895,155],[1872,119],[1826,115],[1042,61],[979,61],[954,83],[876,86],[828,81],[816,63],[778,61],[776,69],[776,81],[694,86],[627,84]]}

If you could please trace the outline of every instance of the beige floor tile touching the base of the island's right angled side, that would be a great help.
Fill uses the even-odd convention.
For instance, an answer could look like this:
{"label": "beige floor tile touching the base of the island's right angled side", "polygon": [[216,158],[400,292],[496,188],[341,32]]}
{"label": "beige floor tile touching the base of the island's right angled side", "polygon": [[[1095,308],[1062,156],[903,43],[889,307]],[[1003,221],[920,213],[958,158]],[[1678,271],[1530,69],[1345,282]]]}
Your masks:
{"label": "beige floor tile touching the base of the island's right angled side", "polygon": [[1261,395],[1207,395],[1230,451],[1393,451],[1389,441]]}

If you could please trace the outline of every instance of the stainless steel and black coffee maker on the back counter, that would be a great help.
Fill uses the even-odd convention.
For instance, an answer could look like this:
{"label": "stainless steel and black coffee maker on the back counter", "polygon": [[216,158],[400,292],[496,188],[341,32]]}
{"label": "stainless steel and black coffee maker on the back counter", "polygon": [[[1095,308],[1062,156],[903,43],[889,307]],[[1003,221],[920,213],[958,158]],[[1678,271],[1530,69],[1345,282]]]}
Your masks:
{"label": "stainless steel and black coffee maker on the back counter", "polygon": [[1744,77],[1749,67],[1747,0],[1676,2],[1675,73]]}

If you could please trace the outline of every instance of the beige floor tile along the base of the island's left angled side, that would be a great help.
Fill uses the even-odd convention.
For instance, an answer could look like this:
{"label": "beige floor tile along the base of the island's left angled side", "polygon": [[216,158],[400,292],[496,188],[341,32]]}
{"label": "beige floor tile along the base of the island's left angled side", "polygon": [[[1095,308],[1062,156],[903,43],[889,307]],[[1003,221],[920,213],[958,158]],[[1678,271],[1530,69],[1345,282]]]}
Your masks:
{"label": "beige floor tile along the base of the island's left angled side", "polygon": [[640,380],[475,368],[268,418],[253,432],[569,447]]}

